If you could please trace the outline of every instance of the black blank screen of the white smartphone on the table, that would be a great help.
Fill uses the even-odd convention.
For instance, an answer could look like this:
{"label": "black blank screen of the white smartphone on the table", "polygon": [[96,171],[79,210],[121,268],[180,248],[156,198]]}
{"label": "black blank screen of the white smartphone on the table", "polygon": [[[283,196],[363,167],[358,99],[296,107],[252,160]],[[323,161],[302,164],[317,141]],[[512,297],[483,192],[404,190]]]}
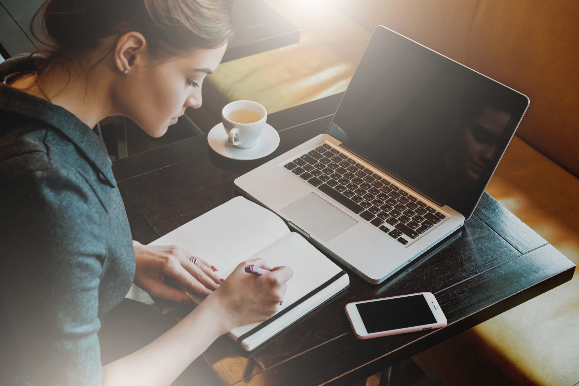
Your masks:
{"label": "black blank screen of the white smartphone on the table", "polygon": [[356,304],[368,333],[436,323],[424,295]]}

